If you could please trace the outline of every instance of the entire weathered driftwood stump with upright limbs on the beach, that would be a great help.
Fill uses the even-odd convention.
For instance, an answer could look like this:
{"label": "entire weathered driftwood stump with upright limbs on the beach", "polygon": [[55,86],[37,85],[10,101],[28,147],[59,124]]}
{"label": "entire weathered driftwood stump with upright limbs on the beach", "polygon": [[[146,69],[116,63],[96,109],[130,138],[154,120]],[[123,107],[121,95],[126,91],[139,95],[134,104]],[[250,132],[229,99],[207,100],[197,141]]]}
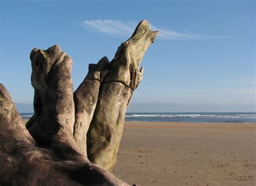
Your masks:
{"label": "entire weathered driftwood stump with upright limbs on the beach", "polygon": [[74,93],[71,58],[58,45],[34,48],[35,114],[26,128],[0,84],[0,184],[126,185],[110,171],[126,108],[142,80],[140,61],[157,34],[140,22],[111,62],[104,57],[89,65]]}

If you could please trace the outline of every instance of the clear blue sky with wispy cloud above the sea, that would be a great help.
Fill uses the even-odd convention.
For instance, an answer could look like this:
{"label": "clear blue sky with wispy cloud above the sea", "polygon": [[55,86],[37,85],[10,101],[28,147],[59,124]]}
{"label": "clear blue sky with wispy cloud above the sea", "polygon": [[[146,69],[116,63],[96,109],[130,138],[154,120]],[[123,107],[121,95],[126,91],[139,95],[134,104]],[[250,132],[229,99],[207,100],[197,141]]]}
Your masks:
{"label": "clear blue sky with wispy cloud above the sea", "polygon": [[129,112],[255,112],[255,1],[1,1],[1,82],[32,111],[32,48],[59,44],[74,89],[140,20],[160,31]]}

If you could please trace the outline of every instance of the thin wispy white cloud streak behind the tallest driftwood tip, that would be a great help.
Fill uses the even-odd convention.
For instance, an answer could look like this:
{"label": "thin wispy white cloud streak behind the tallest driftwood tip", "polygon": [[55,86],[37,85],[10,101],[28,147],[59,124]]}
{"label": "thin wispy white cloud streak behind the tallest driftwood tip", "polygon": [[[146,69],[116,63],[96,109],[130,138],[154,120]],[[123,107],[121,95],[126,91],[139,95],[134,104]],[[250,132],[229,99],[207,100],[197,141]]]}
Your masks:
{"label": "thin wispy white cloud streak behind the tallest driftwood tip", "polygon": [[[97,31],[104,34],[112,35],[113,37],[129,37],[136,27],[136,23],[124,22],[122,20],[111,20],[111,19],[98,19],[98,20],[85,20],[80,25],[90,31]],[[201,35],[192,32],[176,32],[169,28],[160,28],[150,25],[152,30],[158,30],[160,33],[158,39],[170,40],[188,40],[188,39],[212,39],[212,38],[224,38],[218,35]]]}

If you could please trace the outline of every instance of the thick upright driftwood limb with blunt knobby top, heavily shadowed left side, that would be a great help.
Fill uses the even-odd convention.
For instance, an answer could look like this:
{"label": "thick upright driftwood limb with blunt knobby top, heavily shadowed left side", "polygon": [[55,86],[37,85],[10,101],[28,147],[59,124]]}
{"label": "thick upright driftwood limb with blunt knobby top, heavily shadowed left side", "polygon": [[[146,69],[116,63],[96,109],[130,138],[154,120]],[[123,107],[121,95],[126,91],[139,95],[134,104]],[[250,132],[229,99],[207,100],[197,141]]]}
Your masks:
{"label": "thick upright driftwood limb with blunt knobby top, heavily shadowed left side", "polygon": [[31,83],[35,89],[35,116],[27,127],[38,146],[52,148],[62,158],[82,154],[73,138],[75,104],[71,80],[72,60],[58,45],[30,54]]}

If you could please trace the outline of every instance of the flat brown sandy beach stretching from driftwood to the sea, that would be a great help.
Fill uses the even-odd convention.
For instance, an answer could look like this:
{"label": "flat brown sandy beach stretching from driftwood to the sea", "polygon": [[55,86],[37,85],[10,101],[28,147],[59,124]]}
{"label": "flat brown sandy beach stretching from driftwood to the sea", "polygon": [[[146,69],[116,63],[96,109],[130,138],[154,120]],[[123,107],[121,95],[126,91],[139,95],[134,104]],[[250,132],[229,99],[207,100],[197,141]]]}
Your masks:
{"label": "flat brown sandy beach stretching from driftwood to the sea", "polygon": [[255,123],[126,121],[112,173],[131,185],[255,185],[255,130]]}

